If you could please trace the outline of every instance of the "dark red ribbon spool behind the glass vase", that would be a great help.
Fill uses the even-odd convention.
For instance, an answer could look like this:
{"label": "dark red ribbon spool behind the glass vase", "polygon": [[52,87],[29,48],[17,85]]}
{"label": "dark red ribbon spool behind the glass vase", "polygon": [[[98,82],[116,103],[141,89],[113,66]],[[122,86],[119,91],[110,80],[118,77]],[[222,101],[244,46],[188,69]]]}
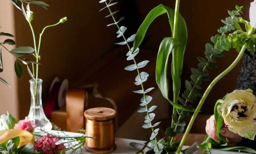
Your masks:
{"label": "dark red ribbon spool behind the glass vase", "polygon": [[48,119],[51,118],[53,109],[59,109],[65,105],[66,93],[69,87],[69,82],[65,79],[62,83],[59,78],[55,78],[52,82],[49,97],[44,106],[44,113]]}

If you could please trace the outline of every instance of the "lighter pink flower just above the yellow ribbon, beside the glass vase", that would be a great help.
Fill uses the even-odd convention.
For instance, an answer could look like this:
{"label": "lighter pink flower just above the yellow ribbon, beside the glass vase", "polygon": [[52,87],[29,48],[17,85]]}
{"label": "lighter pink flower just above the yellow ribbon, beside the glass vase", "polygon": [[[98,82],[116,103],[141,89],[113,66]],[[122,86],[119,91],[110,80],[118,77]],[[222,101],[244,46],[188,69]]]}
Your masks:
{"label": "lighter pink flower just above the yellow ribbon, beside the glass vase", "polygon": [[34,131],[36,125],[29,121],[29,117],[26,117],[24,120],[20,120],[17,124],[14,125],[14,129],[23,129],[27,130],[28,132]]}

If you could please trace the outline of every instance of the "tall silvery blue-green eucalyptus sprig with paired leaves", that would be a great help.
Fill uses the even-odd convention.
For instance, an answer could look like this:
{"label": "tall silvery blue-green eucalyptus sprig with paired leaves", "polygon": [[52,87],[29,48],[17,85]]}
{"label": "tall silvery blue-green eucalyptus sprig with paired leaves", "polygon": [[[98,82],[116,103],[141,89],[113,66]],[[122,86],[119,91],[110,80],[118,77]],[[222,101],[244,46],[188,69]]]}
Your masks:
{"label": "tall silvery blue-green eucalyptus sprig with paired leaves", "polygon": [[[128,39],[126,39],[126,37],[124,36],[124,32],[127,30],[126,27],[124,26],[121,26],[119,27],[118,23],[120,21],[122,21],[124,19],[124,17],[121,17],[119,20],[116,20],[114,15],[119,11],[114,11],[112,12],[110,7],[111,6],[114,6],[117,4],[117,2],[115,3],[112,3],[113,0],[109,0],[109,2],[107,3],[108,0],[101,0],[99,1],[99,3],[105,3],[106,4],[106,7],[104,7],[103,9],[101,10],[104,10],[104,9],[108,9],[110,14],[107,15],[106,17],[112,17],[113,20],[114,20],[114,23],[112,24],[109,24],[107,26],[112,26],[112,25],[116,25],[117,28],[118,28],[118,31],[117,31],[117,38],[119,37],[123,37],[124,41],[123,42],[119,42],[119,43],[116,43],[117,45],[127,45],[129,51],[127,52],[126,56],[128,61],[132,60],[134,62],[134,64],[130,65],[130,66],[127,66],[125,67],[125,70],[128,70],[128,71],[133,71],[133,70],[137,70],[138,72],[138,75],[137,77],[135,78],[135,85],[136,86],[141,86],[141,90],[135,90],[133,91],[134,93],[138,93],[138,94],[143,94],[143,97],[141,98],[140,102],[140,106],[144,106],[142,108],[140,108],[138,110],[138,112],[142,113],[142,112],[146,112],[146,116],[145,116],[145,120],[144,120],[144,125],[142,125],[143,128],[147,129],[147,128],[150,128],[152,130],[152,134],[151,134],[151,137],[150,137],[150,141],[149,142],[149,146],[150,147],[154,147],[154,151],[156,154],[160,154],[163,150],[163,146],[161,144],[161,142],[163,141],[163,139],[161,140],[158,140],[157,139],[157,135],[158,135],[158,131],[159,131],[159,128],[155,129],[156,126],[158,126],[161,122],[157,122],[155,124],[152,123],[152,121],[154,120],[155,118],[155,113],[152,113],[156,108],[157,106],[151,106],[151,107],[148,107],[148,104],[151,102],[152,100],[152,97],[149,96],[149,95],[146,95],[146,93],[150,92],[151,90],[154,89],[154,87],[151,87],[151,88],[148,88],[148,89],[145,89],[144,88],[144,82],[147,81],[147,78],[149,76],[148,73],[146,72],[140,72],[139,71],[139,68],[143,68],[145,67],[149,61],[148,60],[144,60],[140,63],[137,63],[137,61],[135,60],[135,56],[138,55],[139,53],[139,48],[131,48],[130,45],[129,45],[129,42],[133,42],[135,40],[135,37],[136,37],[136,34],[132,35],[131,37],[129,37]],[[100,10],[100,11],[101,11]]]}

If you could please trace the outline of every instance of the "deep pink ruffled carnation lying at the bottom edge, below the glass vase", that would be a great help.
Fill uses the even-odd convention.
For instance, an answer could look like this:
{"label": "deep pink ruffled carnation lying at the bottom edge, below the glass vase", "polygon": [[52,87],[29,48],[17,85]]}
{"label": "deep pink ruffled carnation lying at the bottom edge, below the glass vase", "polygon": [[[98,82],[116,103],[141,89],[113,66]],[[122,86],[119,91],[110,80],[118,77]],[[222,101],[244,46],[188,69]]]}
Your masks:
{"label": "deep pink ruffled carnation lying at the bottom edge, below the glass vase", "polygon": [[64,144],[56,145],[56,142],[59,140],[59,138],[47,134],[36,141],[35,149],[43,154],[56,154],[58,150],[66,148]]}

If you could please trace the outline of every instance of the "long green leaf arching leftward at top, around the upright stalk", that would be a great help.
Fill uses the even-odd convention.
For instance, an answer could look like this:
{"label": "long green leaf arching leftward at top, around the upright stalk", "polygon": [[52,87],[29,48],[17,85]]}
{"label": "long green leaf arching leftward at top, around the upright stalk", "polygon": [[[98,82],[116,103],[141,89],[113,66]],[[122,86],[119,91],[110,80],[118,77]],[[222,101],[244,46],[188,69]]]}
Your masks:
{"label": "long green leaf arching leftward at top, around the upright stalk", "polygon": [[[138,48],[139,45],[142,43],[145,34],[150,26],[150,24],[160,15],[167,13],[168,18],[169,18],[169,24],[171,29],[173,30],[174,27],[174,10],[164,6],[164,5],[159,5],[153,10],[149,12],[141,26],[139,27],[136,38],[134,41],[134,49]],[[184,52],[186,48],[186,43],[187,43],[187,27],[184,18],[179,14],[178,18],[178,36],[177,36],[177,41],[179,42],[179,46],[175,48],[172,51],[172,79],[173,79],[173,93],[176,98],[178,98],[178,95],[180,93],[181,89],[181,73],[182,73],[182,68],[183,68],[183,57],[184,57]],[[134,50],[135,51],[135,50]],[[133,51],[133,52],[134,52]],[[164,67],[164,66],[163,66]],[[177,100],[174,100],[176,102]]]}

